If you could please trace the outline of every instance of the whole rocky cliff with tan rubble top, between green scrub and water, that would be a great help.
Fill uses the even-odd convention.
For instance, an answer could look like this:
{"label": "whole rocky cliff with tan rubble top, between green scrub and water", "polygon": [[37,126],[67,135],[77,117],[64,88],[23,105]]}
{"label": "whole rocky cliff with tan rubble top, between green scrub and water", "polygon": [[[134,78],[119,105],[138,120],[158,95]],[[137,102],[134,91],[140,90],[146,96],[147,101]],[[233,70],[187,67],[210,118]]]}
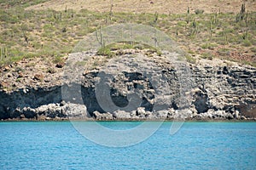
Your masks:
{"label": "whole rocky cliff with tan rubble top, between green scrub and water", "polygon": [[[32,71],[26,72],[22,65],[19,67],[26,76],[21,78],[15,73],[17,65],[3,68],[0,119],[256,117],[256,68],[221,59],[197,59],[190,64],[177,58],[177,54],[160,55],[149,50],[122,50],[113,59],[92,57],[86,60],[81,84],[61,82],[63,68],[52,73],[42,71],[42,79],[36,77],[38,71],[28,73]],[[33,82],[26,84],[28,80]],[[73,95],[73,91],[67,97],[65,89],[70,87],[76,87],[73,89],[78,89],[81,96]]]}

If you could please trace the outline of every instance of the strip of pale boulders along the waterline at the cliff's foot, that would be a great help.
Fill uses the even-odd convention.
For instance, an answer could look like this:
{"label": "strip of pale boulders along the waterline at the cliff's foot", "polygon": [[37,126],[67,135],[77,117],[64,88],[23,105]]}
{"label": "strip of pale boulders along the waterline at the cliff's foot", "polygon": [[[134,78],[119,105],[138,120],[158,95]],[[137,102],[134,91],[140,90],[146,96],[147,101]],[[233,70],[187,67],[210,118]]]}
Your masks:
{"label": "strip of pale boulders along the waterline at the cliff's foot", "polygon": [[[91,115],[83,111],[84,105],[70,104],[62,102],[61,104],[41,105],[32,109],[24,107],[19,112],[20,116],[2,119],[2,122],[13,121],[202,121],[202,122],[251,122],[256,121],[255,117],[241,116],[239,111],[233,114],[225,111],[208,110],[205,113],[197,114],[190,110],[175,111],[145,111],[145,108],[139,107],[137,111],[114,111],[113,113],[100,113],[94,111]],[[74,115],[74,113],[76,113]]]}

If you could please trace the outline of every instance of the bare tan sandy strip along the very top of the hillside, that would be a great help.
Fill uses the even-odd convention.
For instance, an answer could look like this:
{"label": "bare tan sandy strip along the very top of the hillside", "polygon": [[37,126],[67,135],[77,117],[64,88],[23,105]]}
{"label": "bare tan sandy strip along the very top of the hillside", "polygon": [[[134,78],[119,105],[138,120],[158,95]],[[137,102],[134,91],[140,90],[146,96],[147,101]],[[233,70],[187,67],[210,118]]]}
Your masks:
{"label": "bare tan sandy strip along the very top of the hillside", "polygon": [[247,11],[256,11],[255,0],[51,0],[26,9],[64,10],[67,6],[75,10],[86,8],[108,12],[113,4],[113,12],[182,14],[187,13],[189,7],[191,13],[194,13],[195,9],[203,9],[205,13],[238,13],[241,3],[246,3]]}

